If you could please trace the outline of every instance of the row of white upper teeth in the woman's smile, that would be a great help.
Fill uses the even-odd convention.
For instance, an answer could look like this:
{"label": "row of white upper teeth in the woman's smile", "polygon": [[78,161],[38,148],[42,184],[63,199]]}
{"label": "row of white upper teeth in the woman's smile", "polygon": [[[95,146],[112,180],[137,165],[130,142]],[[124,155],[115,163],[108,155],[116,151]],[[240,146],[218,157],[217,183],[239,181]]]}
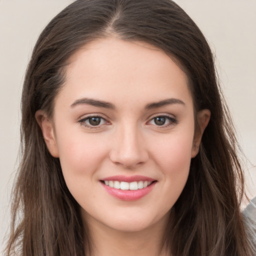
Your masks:
{"label": "row of white upper teeth in the woman's smile", "polygon": [[125,181],[117,181],[117,180],[104,180],[105,185],[110,187],[121,189],[121,190],[137,190],[144,187],[147,187],[152,183],[152,181],[132,181],[132,182],[125,182]]}

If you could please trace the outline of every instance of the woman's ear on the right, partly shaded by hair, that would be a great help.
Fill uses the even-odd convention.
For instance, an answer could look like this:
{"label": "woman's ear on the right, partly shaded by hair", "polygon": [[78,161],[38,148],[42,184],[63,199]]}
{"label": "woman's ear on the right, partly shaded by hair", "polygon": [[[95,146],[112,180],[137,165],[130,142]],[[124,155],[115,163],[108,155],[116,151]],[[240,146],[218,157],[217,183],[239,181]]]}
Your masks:
{"label": "woman's ear on the right, partly shaded by hair", "polygon": [[191,158],[195,157],[199,151],[199,145],[204,129],[206,128],[210,119],[210,110],[202,109],[197,113],[197,127],[194,132],[193,146],[191,150]]}

